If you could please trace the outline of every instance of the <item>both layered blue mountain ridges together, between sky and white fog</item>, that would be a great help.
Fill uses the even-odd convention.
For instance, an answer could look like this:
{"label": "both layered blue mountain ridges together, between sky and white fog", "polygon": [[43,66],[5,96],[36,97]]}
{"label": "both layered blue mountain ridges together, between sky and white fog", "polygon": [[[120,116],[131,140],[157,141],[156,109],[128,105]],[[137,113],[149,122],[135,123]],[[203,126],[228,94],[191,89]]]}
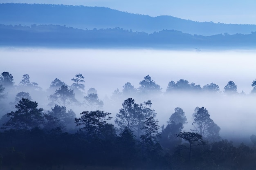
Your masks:
{"label": "both layered blue mountain ridges together, between sky and white fog", "polygon": [[1,46],[254,49],[256,25],[150,17],[105,7],[0,4]]}

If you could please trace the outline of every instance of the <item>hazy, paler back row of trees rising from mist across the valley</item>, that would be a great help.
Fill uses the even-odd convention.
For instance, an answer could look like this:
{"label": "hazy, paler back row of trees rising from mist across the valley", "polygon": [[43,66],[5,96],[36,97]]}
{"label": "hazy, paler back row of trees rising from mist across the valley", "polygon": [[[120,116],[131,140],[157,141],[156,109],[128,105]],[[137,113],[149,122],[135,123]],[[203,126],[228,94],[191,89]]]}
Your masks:
{"label": "hazy, paler back row of trees rising from mist across the valley", "polygon": [[[103,101],[99,99],[95,88],[88,89],[85,93],[85,81],[82,74],[77,74],[71,79],[73,84],[68,86],[65,82],[55,78],[49,88],[45,92],[36,82],[31,82],[28,74],[22,76],[18,85],[14,84],[13,76],[9,72],[3,72],[0,75],[0,112],[6,114],[11,111],[15,104],[24,97],[28,99],[36,99],[40,104],[45,104],[49,101],[48,107],[54,107],[55,104],[66,108],[74,108],[75,106],[82,106],[86,110],[102,110]],[[256,93],[256,80],[252,82],[252,91],[250,94]],[[217,84],[211,83],[204,86],[189,83],[187,80],[180,79],[176,83],[172,80],[168,83],[165,94],[173,92],[196,92],[196,93],[216,93],[225,95],[239,94],[237,86],[234,82],[229,81],[221,91]],[[244,94],[244,92],[241,92]],[[32,96],[31,96],[32,94]],[[122,91],[115,90],[112,94],[112,99],[124,100],[135,95],[150,95],[163,94],[162,88],[149,76],[139,82],[139,87],[135,88],[130,82],[124,84]],[[39,97],[40,96],[40,97]],[[38,99],[37,99],[38,98]],[[44,106],[46,107],[46,106]]]}

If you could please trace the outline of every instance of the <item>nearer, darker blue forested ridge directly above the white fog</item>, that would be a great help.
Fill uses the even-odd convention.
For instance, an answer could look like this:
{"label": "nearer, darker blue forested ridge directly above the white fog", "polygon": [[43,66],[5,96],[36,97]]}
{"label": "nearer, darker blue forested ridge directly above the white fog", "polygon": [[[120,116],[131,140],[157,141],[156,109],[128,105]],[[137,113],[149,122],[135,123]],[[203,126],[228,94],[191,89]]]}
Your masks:
{"label": "nearer, darker blue forested ridge directly above the white fog", "polygon": [[74,29],[60,25],[0,24],[1,46],[70,47],[153,47],[153,48],[255,48],[256,32],[251,34],[191,35],[175,30],[154,33],[115,29]]}

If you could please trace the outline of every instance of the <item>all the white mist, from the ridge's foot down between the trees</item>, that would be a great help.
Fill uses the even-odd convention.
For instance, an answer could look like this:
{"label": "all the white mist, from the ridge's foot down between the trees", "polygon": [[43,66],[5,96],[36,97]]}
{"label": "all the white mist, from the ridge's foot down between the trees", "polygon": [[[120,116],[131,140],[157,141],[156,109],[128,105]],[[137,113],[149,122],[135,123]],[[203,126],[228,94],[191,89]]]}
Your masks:
{"label": "all the white mist, from the ridge's foot down between the trees", "polygon": [[[1,73],[11,73],[17,86],[22,75],[28,74],[31,82],[38,83],[43,91],[47,91],[55,78],[71,85],[71,79],[81,73],[85,77],[85,95],[89,88],[95,88],[99,99],[104,102],[103,110],[112,113],[112,117],[115,117],[124,99],[127,99],[123,96],[113,100],[112,93],[117,88],[121,92],[127,82],[138,88],[139,82],[150,75],[161,86],[162,93],[128,97],[134,98],[136,103],[151,100],[159,126],[166,124],[174,109],[180,107],[188,120],[184,130],[189,131],[192,128],[194,109],[204,107],[211,119],[220,126],[223,139],[240,137],[249,140],[249,136],[256,133],[256,96],[250,95],[251,84],[256,78],[255,51],[2,48],[0,56]],[[201,87],[213,82],[219,86],[220,92],[166,94],[168,83],[180,79]],[[236,84],[236,95],[223,93],[229,81]],[[242,91],[243,94],[240,94]],[[30,95],[40,107],[50,109],[47,108],[47,95],[50,94]],[[9,100],[13,101],[14,98]],[[83,107],[72,109],[77,116],[84,111]]]}

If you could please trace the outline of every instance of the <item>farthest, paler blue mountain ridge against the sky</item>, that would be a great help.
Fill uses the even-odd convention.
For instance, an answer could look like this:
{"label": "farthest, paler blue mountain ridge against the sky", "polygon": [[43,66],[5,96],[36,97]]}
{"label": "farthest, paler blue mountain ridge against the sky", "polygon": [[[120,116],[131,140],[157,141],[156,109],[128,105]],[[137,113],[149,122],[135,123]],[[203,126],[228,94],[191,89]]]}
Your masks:
{"label": "farthest, paler blue mountain ridge against the sky", "polygon": [[132,14],[106,7],[52,4],[0,4],[0,24],[29,26],[32,24],[57,24],[79,29],[120,27],[133,32],[146,33],[167,29],[182,31],[191,35],[250,34],[256,31],[256,25],[252,24],[195,22],[172,16],[150,17]]}

